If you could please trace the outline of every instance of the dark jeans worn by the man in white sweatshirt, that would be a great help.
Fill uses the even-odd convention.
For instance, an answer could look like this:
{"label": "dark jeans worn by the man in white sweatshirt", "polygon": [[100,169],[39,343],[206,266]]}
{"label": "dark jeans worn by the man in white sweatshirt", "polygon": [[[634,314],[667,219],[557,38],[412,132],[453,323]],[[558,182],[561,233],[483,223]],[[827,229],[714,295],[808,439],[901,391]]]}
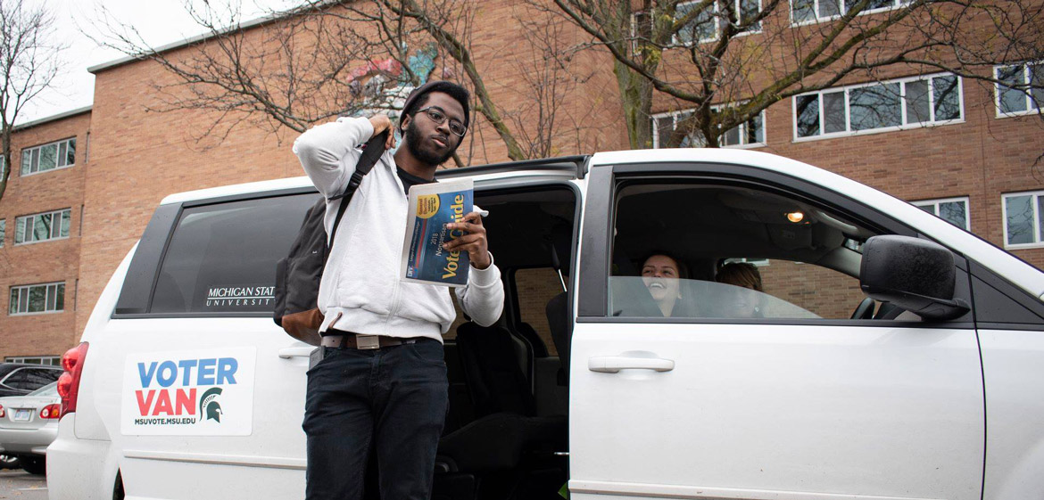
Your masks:
{"label": "dark jeans worn by the man in white sweatshirt", "polygon": [[428,500],[448,404],[442,343],[326,356],[308,372],[305,498],[361,500],[373,450],[382,500]]}

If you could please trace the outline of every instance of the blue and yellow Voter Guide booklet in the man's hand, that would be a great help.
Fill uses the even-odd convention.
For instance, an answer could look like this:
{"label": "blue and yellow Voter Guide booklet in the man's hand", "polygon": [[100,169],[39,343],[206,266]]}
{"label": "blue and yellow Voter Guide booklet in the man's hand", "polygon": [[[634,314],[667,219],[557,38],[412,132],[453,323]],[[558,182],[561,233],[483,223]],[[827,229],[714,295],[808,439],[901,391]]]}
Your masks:
{"label": "blue and yellow Voter Guide booklet in the man's hand", "polygon": [[471,180],[420,184],[409,188],[406,239],[402,245],[402,280],[442,286],[464,286],[471,267],[467,252],[446,252],[443,243],[462,236],[446,224],[474,211]]}

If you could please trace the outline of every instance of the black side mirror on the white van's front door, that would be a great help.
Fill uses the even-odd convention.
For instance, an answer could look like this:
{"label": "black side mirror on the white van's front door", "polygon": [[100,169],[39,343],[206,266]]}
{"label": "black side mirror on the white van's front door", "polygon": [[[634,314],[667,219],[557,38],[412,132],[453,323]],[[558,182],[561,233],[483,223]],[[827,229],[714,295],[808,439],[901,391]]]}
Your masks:
{"label": "black side mirror on the white van's front door", "polygon": [[953,319],[969,311],[953,299],[956,266],[945,247],[908,236],[874,236],[862,246],[859,287],[925,319]]}

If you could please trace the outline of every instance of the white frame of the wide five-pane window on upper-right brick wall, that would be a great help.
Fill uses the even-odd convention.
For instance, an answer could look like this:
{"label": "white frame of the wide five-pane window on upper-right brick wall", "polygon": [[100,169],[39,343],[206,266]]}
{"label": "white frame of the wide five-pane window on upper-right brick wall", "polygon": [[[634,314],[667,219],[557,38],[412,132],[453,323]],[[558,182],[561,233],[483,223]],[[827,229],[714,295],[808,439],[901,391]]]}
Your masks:
{"label": "white frame of the wide five-pane window on upper-right brick wall", "polygon": [[[957,78],[957,105],[958,105],[958,109],[960,111],[960,117],[959,118],[954,118],[954,119],[949,119],[949,120],[935,120],[934,119],[934,115],[935,115],[935,92],[934,92],[934,90],[935,90],[935,87],[934,87],[934,84],[932,82],[932,80],[935,77],[946,77],[946,76],[953,76],[953,77]],[[932,119],[926,120],[926,121],[909,122],[908,118],[907,118],[909,116],[909,113],[907,111],[908,106],[906,104],[906,85],[910,84],[910,82],[917,82],[917,81],[927,81],[928,82],[928,111],[930,112]],[[852,129],[852,114],[851,114],[851,111],[850,111],[851,110],[851,91],[858,90],[858,89],[865,89],[865,88],[876,87],[876,86],[885,86],[885,85],[889,85],[889,84],[899,84],[900,85],[900,91],[899,91],[898,98],[899,98],[900,117],[901,117],[902,123],[899,124],[899,125],[883,126],[883,127],[879,127],[879,128],[868,128],[868,129],[862,129],[862,130],[853,130]],[[824,94],[833,94],[833,93],[837,93],[837,92],[844,92],[844,94],[845,94],[845,128],[846,129],[843,130],[843,132],[825,133],[824,130],[825,130],[826,119],[825,119],[825,116],[824,116],[823,95]],[[801,98],[801,97],[813,96],[813,95],[816,96],[816,100],[818,101],[820,133],[816,134],[816,135],[814,135],[814,136],[801,137],[801,136],[798,135],[798,99]],[[822,89],[822,90],[812,91],[812,92],[805,92],[803,94],[798,94],[798,95],[794,95],[794,96],[790,97],[790,124],[792,126],[792,142],[794,142],[794,143],[809,142],[809,141],[822,141],[822,140],[825,140],[825,139],[834,139],[834,138],[838,138],[838,137],[869,136],[869,135],[874,135],[874,134],[885,134],[885,133],[898,132],[898,130],[909,130],[909,129],[926,128],[926,127],[932,127],[932,126],[952,125],[952,124],[957,124],[957,123],[964,123],[965,121],[966,121],[966,112],[965,112],[965,86],[964,86],[964,78],[960,77],[960,75],[956,75],[956,74],[953,74],[953,73],[929,73],[929,74],[925,74],[925,75],[905,76],[905,77],[902,77],[902,78],[892,78],[892,79],[884,79],[884,80],[879,80],[879,81],[870,81],[870,82],[863,82],[863,84],[855,84],[855,85],[844,86],[844,87],[831,87],[831,88],[828,88],[828,89]]]}

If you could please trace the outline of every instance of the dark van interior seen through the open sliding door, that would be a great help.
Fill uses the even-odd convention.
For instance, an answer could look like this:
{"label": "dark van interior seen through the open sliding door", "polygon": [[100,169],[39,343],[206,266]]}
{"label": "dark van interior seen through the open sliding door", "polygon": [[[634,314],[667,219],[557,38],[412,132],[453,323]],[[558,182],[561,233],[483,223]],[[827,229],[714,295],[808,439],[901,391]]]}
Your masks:
{"label": "dark van interior seen through the open sliding door", "polygon": [[492,327],[458,314],[447,334],[450,405],[432,498],[560,499],[575,194],[566,185],[476,192],[475,205],[491,214],[483,223],[505,307]]}

